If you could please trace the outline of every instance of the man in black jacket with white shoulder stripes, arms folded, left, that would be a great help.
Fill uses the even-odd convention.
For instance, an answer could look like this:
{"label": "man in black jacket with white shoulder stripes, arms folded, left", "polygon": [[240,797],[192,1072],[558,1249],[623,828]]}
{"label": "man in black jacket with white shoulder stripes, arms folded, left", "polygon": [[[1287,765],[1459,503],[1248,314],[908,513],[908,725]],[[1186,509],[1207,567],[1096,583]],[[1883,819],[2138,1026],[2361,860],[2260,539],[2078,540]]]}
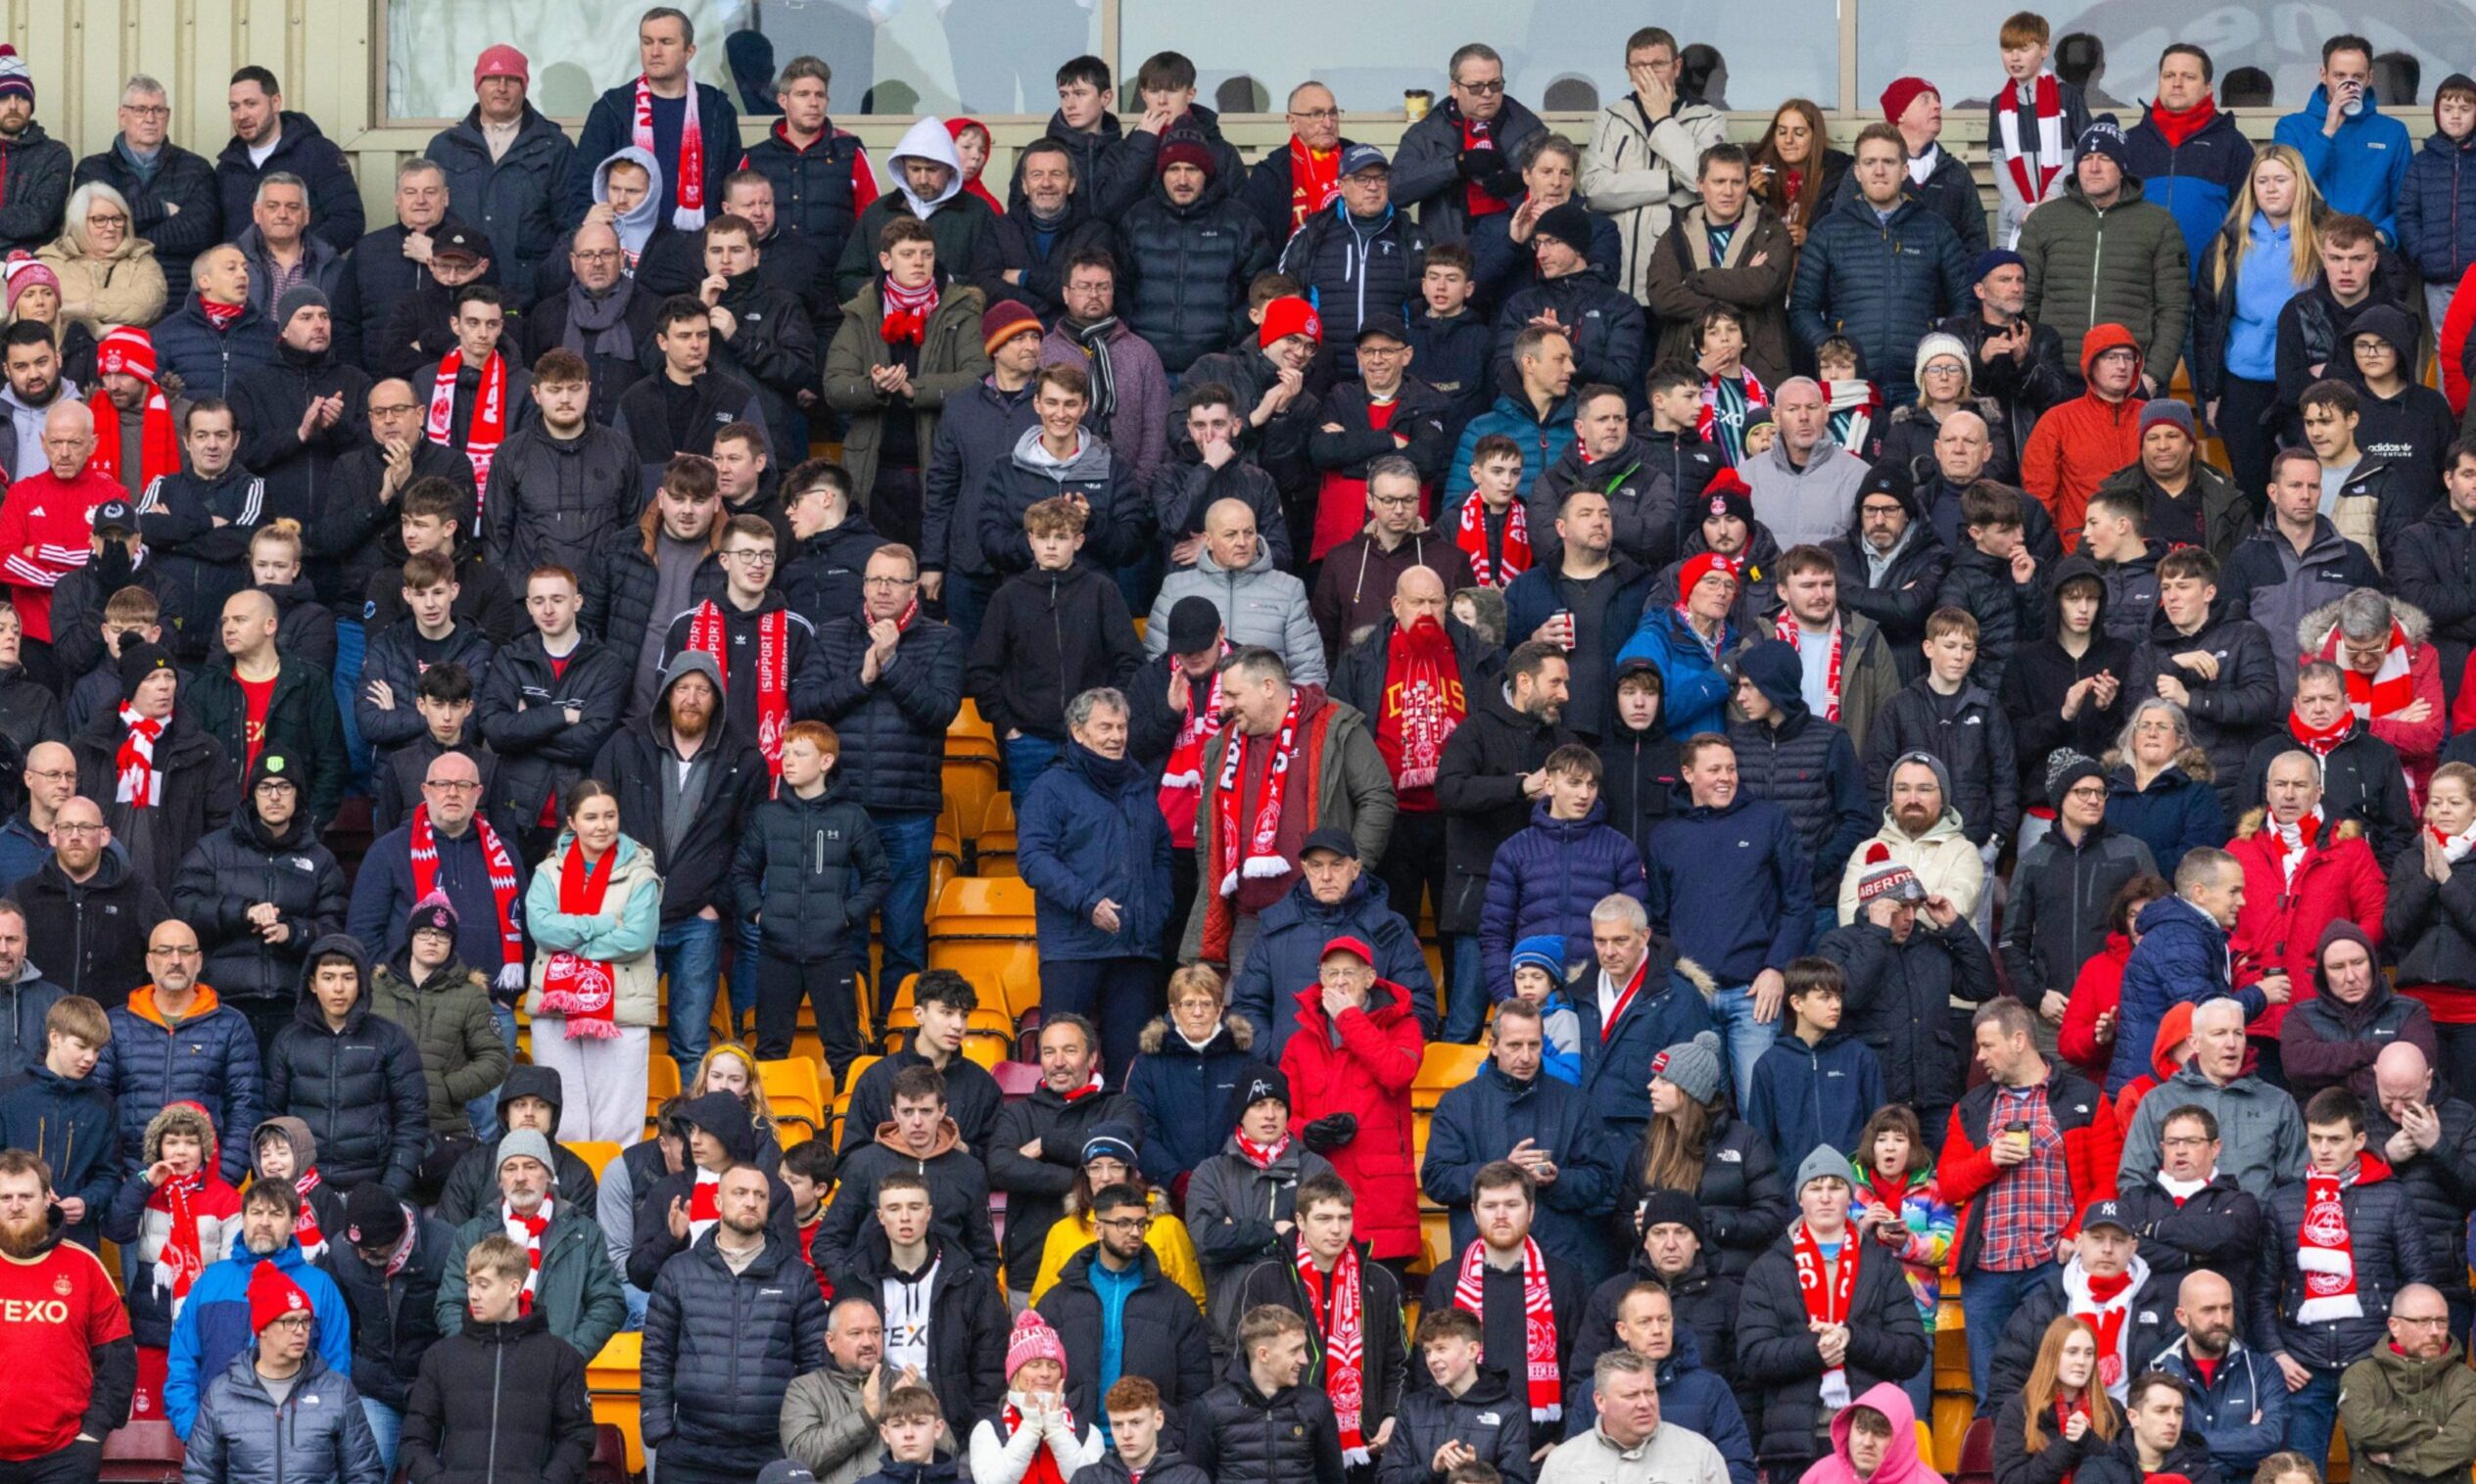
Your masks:
{"label": "man in black jacket with white shoulder stripes, arms folded, left", "polygon": [[188,467],[146,487],[136,522],[154,556],[154,591],[171,628],[171,650],[183,665],[198,665],[213,653],[223,601],[250,586],[250,537],[270,514],[265,480],[233,458],[240,425],[228,403],[198,398],[183,406],[181,448]]}

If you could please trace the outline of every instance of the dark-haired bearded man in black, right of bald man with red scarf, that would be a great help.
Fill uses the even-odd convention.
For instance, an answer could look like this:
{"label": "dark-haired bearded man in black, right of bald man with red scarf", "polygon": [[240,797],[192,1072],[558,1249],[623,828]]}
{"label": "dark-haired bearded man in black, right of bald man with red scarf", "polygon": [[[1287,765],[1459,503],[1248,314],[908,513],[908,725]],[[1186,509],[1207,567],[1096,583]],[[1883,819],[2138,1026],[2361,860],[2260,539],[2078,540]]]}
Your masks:
{"label": "dark-haired bearded man in black, right of bald man with red scarf", "polygon": [[[1587,500],[1607,502],[1597,492],[1575,492],[1567,505]],[[1604,534],[1604,522],[1595,532],[1580,532],[1567,522],[1567,532],[1580,532],[1582,544],[1570,544],[1567,564],[1590,554],[1590,539]],[[1607,549],[1599,547],[1604,566]],[[1575,735],[1565,727],[1572,700],[1575,665],[1552,643],[1520,643],[1505,658],[1503,680],[1488,680],[1463,693],[1466,710],[1461,725],[1444,744],[1436,762],[1436,809],[1444,814],[1446,885],[1444,905],[1436,908],[1436,927],[1446,937],[1448,994],[1446,1041],[1468,1044],[1478,1039],[1486,1017],[1486,979],[1478,965],[1478,910],[1488,895],[1488,868],[1496,848],[1530,824],[1530,811],[1548,791],[1548,754]],[[1416,831],[1416,826],[1411,826]],[[1666,1046],[1666,1041],[1661,1041]]]}

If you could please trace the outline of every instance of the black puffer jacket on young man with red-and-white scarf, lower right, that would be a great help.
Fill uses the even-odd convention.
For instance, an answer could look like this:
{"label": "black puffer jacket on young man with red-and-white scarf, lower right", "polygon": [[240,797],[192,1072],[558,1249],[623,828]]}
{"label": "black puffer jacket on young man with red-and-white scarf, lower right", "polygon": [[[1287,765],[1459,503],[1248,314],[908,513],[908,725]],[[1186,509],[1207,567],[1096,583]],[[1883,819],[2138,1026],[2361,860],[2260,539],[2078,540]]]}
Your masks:
{"label": "black puffer jacket on young man with red-and-white scarf, lower right", "polygon": [[2389,1301],[2407,1284],[2439,1284],[2444,1269],[2461,1266],[2456,1244],[2436,1254],[2424,1234],[2414,1197],[2389,1165],[2367,1148],[2360,1172],[2340,1185],[2347,1212],[2355,1291],[2365,1313],[2327,1323],[2298,1323],[2305,1301],[2305,1274],[2295,1266],[2298,1232],[2305,1219],[2305,1182],[2288,1180],[2261,1202],[2268,1217],[2266,1281],[2253,1286],[2253,1331],[2261,1348],[2285,1353],[2313,1370],[2337,1370],[2384,1338]]}

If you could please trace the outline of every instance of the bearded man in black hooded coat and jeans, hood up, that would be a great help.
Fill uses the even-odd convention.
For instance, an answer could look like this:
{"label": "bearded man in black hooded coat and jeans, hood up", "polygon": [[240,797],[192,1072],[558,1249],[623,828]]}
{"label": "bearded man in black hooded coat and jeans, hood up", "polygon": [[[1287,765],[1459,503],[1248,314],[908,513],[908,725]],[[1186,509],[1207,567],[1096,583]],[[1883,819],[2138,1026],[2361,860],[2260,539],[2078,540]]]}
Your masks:
{"label": "bearded man in black hooded coat and jeans, hood up", "polygon": [[[651,848],[661,871],[654,957],[671,979],[671,1059],[681,1076],[696,1071],[713,1034],[730,856],[773,787],[755,737],[721,712],[713,655],[681,650],[661,673],[651,715],[612,737],[592,767],[619,794],[619,829]],[[748,1002],[753,1009],[755,994]]]}

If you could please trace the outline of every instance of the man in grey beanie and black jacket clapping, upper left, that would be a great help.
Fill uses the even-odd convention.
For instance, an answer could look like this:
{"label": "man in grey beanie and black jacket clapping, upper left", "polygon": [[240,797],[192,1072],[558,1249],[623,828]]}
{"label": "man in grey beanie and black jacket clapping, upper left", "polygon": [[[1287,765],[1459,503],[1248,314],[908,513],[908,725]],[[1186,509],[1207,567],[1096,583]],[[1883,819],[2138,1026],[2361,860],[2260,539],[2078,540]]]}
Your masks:
{"label": "man in grey beanie and black jacket clapping, upper left", "polygon": [[369,433],[369,373],[334,351],[334,312],[319,299],[277,304],[275,364],[233,388],[240,463],[267,487],[262,519],[310,529],[334,502],[334,465]]}

